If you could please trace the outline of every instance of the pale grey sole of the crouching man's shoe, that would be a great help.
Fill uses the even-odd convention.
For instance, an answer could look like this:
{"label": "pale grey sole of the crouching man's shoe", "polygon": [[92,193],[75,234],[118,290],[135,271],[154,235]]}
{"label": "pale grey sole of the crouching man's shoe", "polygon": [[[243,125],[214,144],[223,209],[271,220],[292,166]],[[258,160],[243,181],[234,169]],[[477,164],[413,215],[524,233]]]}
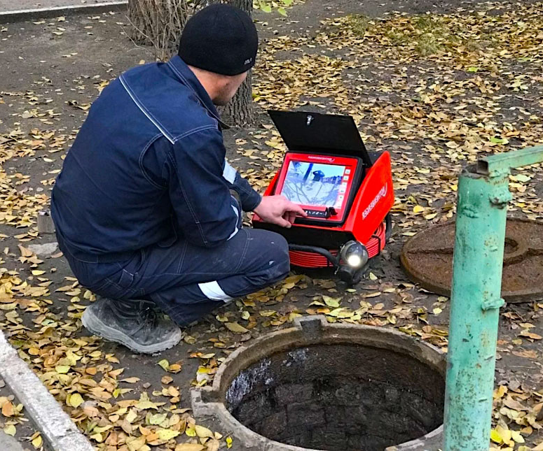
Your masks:
{"label": "pale grey sole of the crouching man's shoe", "polygon": [[90,331],[93,335],[105,338],[109,341],[121,343],[121,345],[126,346],[128,349],[142,354],[154,354],[155,352],[161,352],[173,348],[175,345],[177,345],[177,343],[179,343],[179,341],[181,341],[182,336],[181,330],[178,329],[178,334],[161,343],[157,343],[156,345],[139,345],[132,340],[130,336],[104,324],[96,317],[96,315],[93,315],[89,309],[86,309],[85,312],[83,312],[81,322],[83,322],[85,329],[88,329],[88,331]]}

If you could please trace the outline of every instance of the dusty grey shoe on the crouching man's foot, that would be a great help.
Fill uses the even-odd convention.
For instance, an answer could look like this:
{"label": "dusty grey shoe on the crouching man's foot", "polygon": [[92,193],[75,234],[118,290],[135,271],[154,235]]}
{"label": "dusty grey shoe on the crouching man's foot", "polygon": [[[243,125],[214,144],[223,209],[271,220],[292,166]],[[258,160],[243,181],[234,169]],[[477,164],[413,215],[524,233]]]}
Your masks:
{"label": "dusty grey shoe on the crouching man's foot", "polygon": [[99,298],[85,309],[81,321],[92,334],[144,354],[170,349],[181,341],[181,329],[158,315],[150,301]]}

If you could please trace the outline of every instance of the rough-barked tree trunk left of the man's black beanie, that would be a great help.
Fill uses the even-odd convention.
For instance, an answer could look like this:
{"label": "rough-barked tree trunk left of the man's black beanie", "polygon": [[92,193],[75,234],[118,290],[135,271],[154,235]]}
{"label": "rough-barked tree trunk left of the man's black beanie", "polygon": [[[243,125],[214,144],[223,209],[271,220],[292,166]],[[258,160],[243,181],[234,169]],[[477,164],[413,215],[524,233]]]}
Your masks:
{"label": "rough-barked tree trunk left of the man's black beanie", "polygon": [[153,45],[156,58],[168,59],[200,3],[202,0],[129,0],[130,37],[137,44]]}

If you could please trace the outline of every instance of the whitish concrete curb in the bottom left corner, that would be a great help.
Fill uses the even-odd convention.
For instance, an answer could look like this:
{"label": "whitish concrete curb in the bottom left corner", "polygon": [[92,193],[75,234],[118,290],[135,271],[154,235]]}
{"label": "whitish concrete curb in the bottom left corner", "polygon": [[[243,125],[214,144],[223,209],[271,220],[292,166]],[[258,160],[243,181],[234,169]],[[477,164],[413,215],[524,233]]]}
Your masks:
{"label": "whitish concrete curb in the bottom left corner", "polygon": [[0,375],[53,451],[94,451],[41,380],[0,331]]}

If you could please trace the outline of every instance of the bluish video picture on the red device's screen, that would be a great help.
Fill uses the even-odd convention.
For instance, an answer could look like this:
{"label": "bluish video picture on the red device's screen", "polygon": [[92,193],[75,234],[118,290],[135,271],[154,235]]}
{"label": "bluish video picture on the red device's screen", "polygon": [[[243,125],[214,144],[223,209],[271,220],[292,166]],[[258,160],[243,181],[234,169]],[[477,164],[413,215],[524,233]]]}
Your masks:
{"label": "bluish video picture on the red device's screen", "polygon": [[301,205],[341,207],[344,172],[345,166],[291,161],[281,194]]}

